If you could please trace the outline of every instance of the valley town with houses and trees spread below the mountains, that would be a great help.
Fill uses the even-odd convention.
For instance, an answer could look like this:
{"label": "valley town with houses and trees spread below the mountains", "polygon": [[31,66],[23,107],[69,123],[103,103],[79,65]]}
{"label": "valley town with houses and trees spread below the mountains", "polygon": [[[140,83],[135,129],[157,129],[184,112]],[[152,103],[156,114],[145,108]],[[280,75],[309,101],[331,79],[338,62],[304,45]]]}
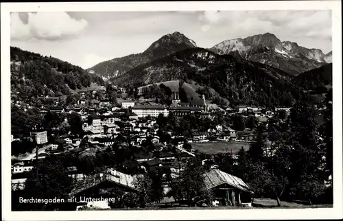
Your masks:
{"label": "valley town with houses and trees spread below the mountains", "polygon": [[[294,123],[289,119],[297,119],[297,114],[311,106],[229,106],[206,100],[205,95],[181,101],[179,90],[161,101],[147,93],[149,88],[124,89],[106,83],[71,95],[41,95],[28,103],[19,92],[12,92],[12,207],[252,207],[258,205],[255,198],[263,195],[281,205],[285,183],[292,181],[281,181],[283,174],[273,171],[279,180],[271,178],[274,184],[268,184],[257,181],[257,175],[250,172],[259,170],[255,166],[260,161],[280,163],[285,157],[287,165],[293,163],[293,155],[285,153],[289,149],[281,148],[285,146],[281,137],[287,136],[288,125]],[[327,110],[324,103],[314,107],[320,115]],[[319,132],[314,131],[314,136],[325,142]],[[283,152],[278,151],[281,149]],[[324,159],[314,169],[322,171],[322,181],[300,200],[311,204],[323,197],[322,189],[331,187],[332,176],[327,174]],[[263,188],[268,185],[274,190],[266,194]],[[38,188],[56,189],[42,194]],[[285,200],[292,198],[291,190],[287,191]],[[27,192],[42,198],[57,194],[60,198],[116,200],[101,205],[73,202],[63,207],[18,204]]]}

